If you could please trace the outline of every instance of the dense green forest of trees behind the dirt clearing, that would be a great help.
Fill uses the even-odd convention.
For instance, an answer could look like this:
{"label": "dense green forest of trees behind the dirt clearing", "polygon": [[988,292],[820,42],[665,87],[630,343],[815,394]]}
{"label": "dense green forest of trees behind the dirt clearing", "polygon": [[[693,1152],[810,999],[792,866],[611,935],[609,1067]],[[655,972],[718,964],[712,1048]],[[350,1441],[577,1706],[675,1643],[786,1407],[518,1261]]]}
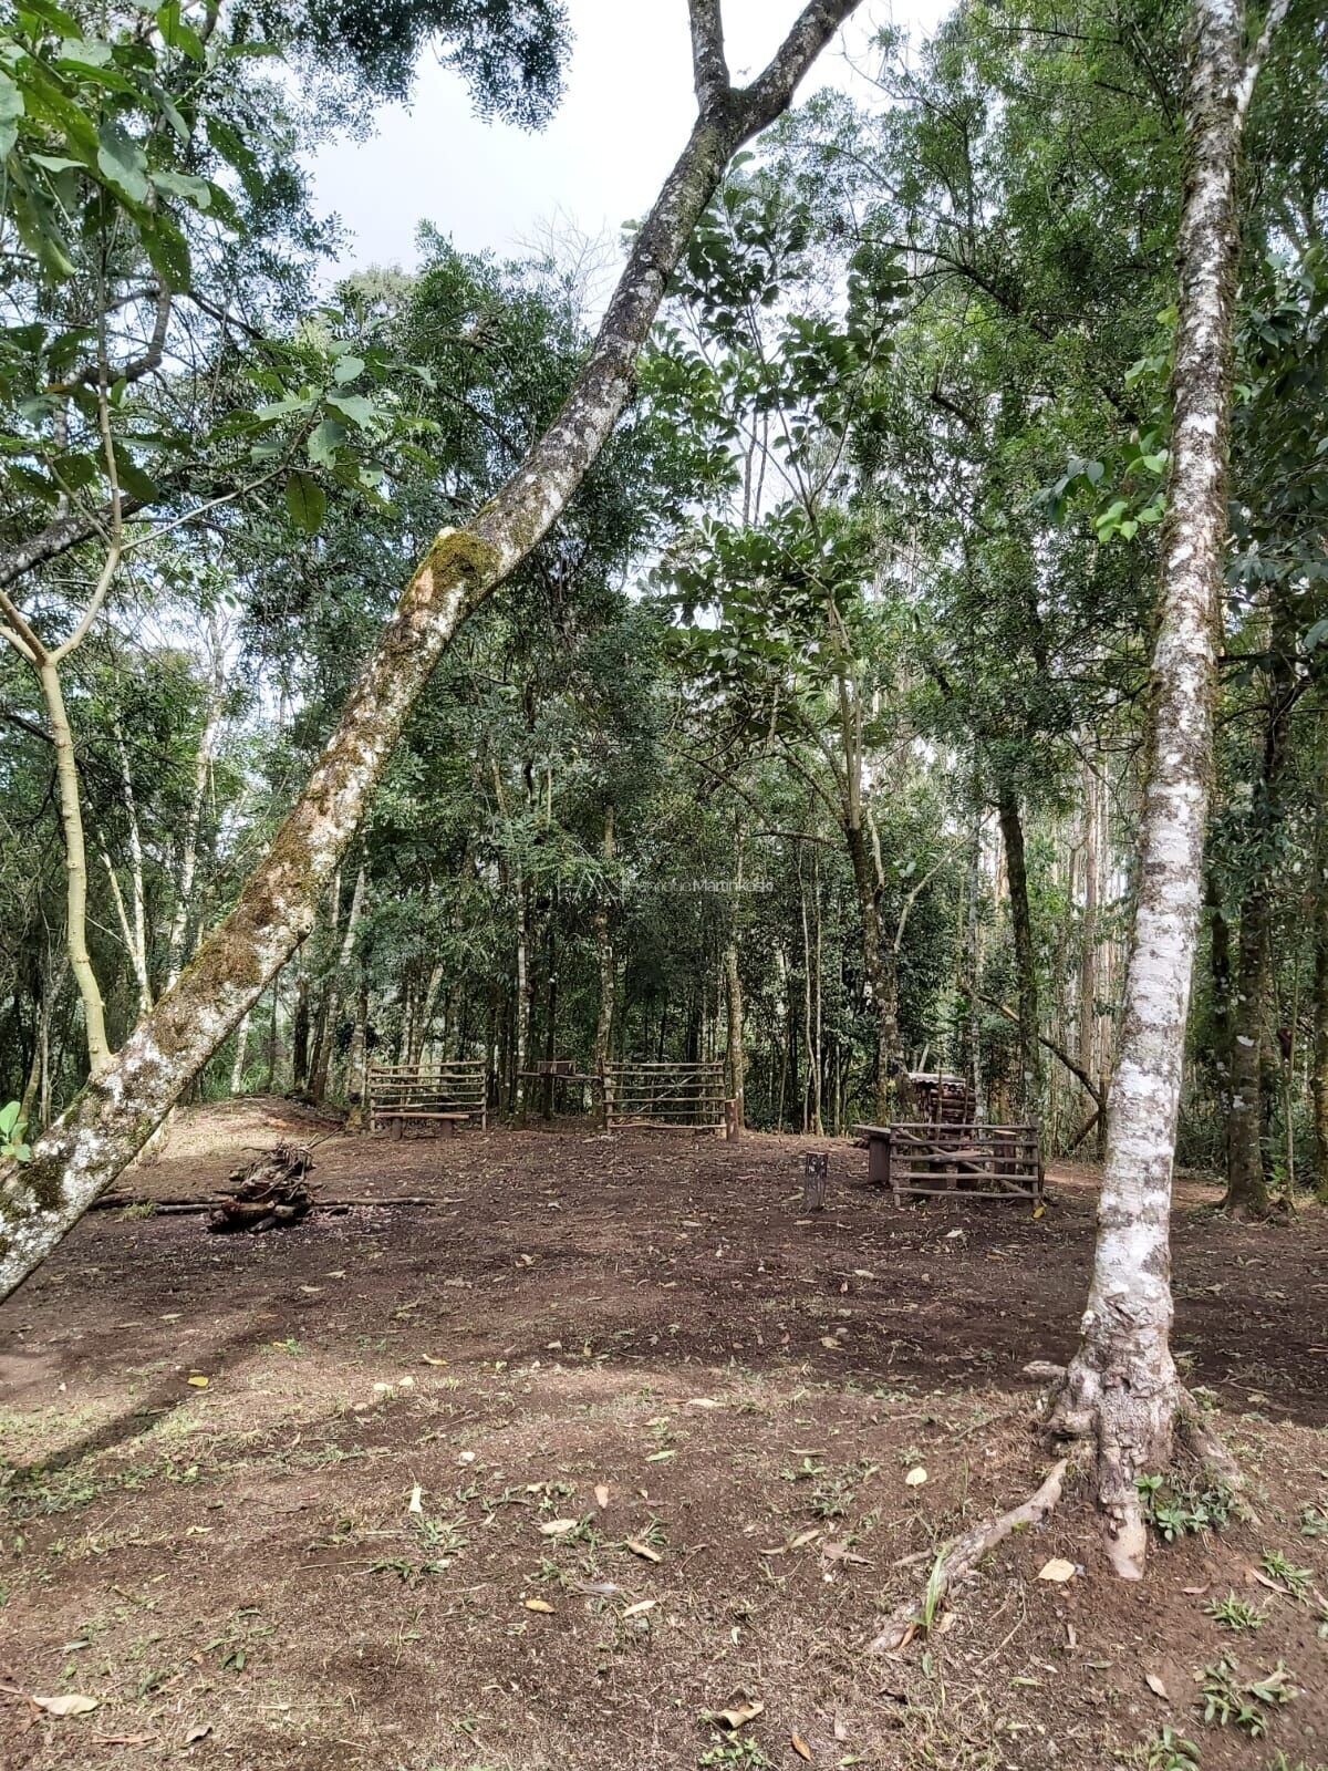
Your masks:
{"label": "dense green forest of trees behind the dirt clearing", "polygon": [[[1317,11],[1291,9],[1245,147],[1177,1149],[1254,1210],[1328,1195]],[[204,1094],[354,1109],[370,1054],[467,1056],[521,1114],[535,1059],[722,1057],[749,1125],[838,1133],[901,1070],[949,1068],[1048,1153],[1096,1148],[1139,884],[1185,14],[965,4],[921,51],[882,39],[876,103],[822,94],[740,156],[627,420],[446,653]],[[228,909],[413,561],[549,425],[597,319],[593,243],[499,264],[430,225],[418,273],[322,299],[336,236],[294,151],[398,90],[413,44],[305,30],[292,87],[239,34],[220,55],[163,18],[108,62],[71,14],[18,11],[53,115],[74,89],[103,106],[110,195],[73,228],[60,181],[89,166],[42,152],[0,76],[0,584],[27,572],[0,648],[0,1102],[32,1130]],[[528,64],[487,103],[537,120],[556,37]],[[145,106],[140,147],[117,117]],[[28,570],[89,494],[108,517]]]}

